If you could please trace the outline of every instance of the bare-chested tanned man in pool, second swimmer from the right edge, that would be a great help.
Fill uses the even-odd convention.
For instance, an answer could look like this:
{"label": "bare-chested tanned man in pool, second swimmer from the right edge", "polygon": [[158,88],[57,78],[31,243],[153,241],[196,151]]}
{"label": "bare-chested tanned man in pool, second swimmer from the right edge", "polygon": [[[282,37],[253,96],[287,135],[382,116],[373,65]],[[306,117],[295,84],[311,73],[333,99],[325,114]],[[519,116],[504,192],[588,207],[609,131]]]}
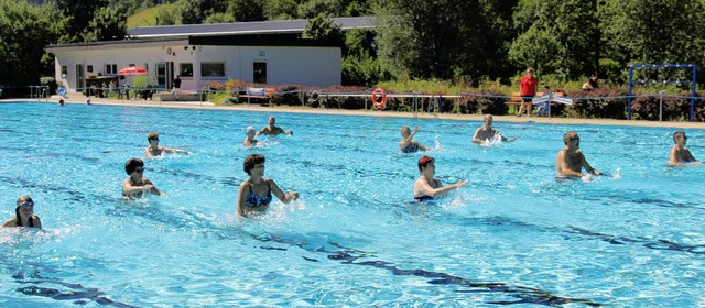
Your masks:
{"label": "bare-chested tanned man in pool, second swimmer from the right edge", "polygon": [[[581,152],[581,138],[576,132],[570,131],[563,135],[565,147],[556,155],[558,177],[583,177],[583,168],[592,175],[603,175],[594,169]],[[589,177],[589,175],[588,175]]]}

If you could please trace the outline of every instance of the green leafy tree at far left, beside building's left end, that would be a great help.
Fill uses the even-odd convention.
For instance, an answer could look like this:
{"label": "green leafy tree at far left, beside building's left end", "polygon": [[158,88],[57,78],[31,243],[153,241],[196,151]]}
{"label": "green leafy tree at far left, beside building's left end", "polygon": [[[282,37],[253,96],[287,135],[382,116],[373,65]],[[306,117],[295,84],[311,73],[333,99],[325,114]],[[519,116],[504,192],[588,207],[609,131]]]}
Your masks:
{"label": "green leafy tree at far left, beside building's left end", "polygon": [[55,20],[50,4],[0,0],[0,84],[37,85],[40,76],[53,75],[44,47],[57,41]]}

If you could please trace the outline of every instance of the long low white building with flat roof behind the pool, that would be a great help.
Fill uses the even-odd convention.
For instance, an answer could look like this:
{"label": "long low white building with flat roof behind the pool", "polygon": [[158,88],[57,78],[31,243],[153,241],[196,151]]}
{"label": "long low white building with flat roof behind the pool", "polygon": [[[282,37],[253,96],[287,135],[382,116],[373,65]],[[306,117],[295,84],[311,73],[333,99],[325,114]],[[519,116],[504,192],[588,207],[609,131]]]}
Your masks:
{"label": "long low white building with flat roof behind the pool", "polygon": [[[88,76],[118,76],[128,66],[147,68],[160,88],[181,76],[184,91],[209,80],[336,86],[341,79],[337,43],[301,38],[306,20],[149,26],[128,30],[124,41],[51,45],[56,80],[69,92]],[[334,19],[341,30],[371,29],[369,18]],[[124,82],[124,81],[122,81]]]}

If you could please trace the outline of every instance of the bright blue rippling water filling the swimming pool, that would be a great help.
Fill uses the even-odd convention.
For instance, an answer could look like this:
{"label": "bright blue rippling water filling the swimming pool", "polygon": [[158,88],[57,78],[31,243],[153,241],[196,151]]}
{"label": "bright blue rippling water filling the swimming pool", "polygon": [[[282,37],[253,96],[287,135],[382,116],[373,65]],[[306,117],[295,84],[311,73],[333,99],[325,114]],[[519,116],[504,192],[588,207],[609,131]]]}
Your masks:
{"label": "bright blue rippling water filling the swimming pool", "polygon": [[[666,167],[675,129],[496,122],[512,143],[470,143],[480,122],[271,113],[293,136],[243,148],[269,113],[0,103],[2,219],[30,195],[44,230],[0,230],[0,306],[705,305],[705,167]],[[435,205],[412,188],[423,154],[469,183]],[[578,132],[593,183],[556,182]],[[123,202],[147,134],[192,155],[145,160],[167,197]],[[705,158],[705,133],[686,130]],[[242,160],[301,199],[235,217]]]}

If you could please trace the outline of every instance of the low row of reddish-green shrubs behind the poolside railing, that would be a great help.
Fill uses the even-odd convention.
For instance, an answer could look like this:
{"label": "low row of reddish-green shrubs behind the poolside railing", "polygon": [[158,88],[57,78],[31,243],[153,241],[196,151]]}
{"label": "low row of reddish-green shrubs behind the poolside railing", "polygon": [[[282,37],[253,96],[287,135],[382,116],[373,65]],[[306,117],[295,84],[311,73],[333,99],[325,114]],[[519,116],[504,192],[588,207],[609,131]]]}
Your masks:
{"label": "low row of reddish-green shrubs behind the poolside railing", "polygon": [[[239,96],[245,94],[248,87],[267,87],[261,84],[248,84],[241,80],[228,80],[226,82],[208,82],[204,90],[212,91],[208,100],[216,103],[242,102]],[[312,108],[339,108],[364,109],[372,108],[370,99],[372,89],[366,87],[326,87],[315,88],[299,85],[283,85],[274,88],[271,102],[278,106],[307,106]],[[318,92],[314,97],[313,92]],[[554,89],[553,91],[562,91]],[[349,94],[357,96],[328,96],[326,94]],[[623,89],[595,89],[592,91],[566,92],[574,98],[571,108],[565,105],[555,105],[551,108],[552,117],[579,117],[603,119],[627,119],[628,94]],[[687,121],[690,119],[691,100],[688,95],[683,97],[666,96],[663,98],[663,120]],[[698,97],[701,95],[697,95]],[[431,112],[458,112],[463,114],[491,113],[497,116],[508,114],[508,97],[499,90],[479,90],[473,94],[464,94],[460,99],[441,97],[437,107],[427,98],[417,99],[417,108]],[[256,101],[258,102],[258,101]],[[430,106],[431,105],[431,106]],[[391,98],[387,100],[386,110],[412,111],[413,98]],[[437,110],[435,110],[437,108]],[[631,103],[632,119],[659,120],[659,97],[637,97]],[[705,121],[705,101],[696,100],[695,120]]]}

